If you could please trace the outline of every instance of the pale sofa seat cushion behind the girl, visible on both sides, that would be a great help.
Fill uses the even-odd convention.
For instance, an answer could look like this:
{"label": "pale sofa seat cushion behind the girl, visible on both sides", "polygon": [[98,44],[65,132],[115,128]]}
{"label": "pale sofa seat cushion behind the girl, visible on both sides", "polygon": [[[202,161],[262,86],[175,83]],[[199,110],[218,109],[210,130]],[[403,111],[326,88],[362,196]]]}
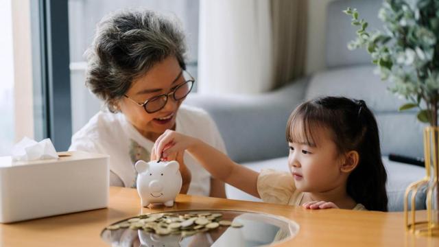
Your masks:
{"label": "pale sofa seat cushion behind the girl, visible on both sides", "polygon": [[[388,210],[403,211],[405,188],[410,183],[422,179],[425,176],[425,169],[423,167],[389,161],[386,156],[383,156],[383,163],[388,174],[388,182],[386,184],[389,199]],[[244,163],[243,165],[257,172],[261,172],[261,169],[269,168],[288,171],[287,157]],[[230,199],[261,201],[259,198],[250,196],[248,193],[230,185],[226,185],[226,193]],[[425,209],[425,200],[426,188],[423,187],[416,196],[416,209]]]}

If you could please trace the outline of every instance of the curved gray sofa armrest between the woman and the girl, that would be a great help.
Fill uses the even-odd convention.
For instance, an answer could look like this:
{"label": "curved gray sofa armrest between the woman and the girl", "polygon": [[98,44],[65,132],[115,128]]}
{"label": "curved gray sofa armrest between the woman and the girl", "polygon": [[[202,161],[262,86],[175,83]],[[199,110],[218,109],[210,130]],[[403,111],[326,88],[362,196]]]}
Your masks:
{"label": "curved gray sofa armrest between the woman and the girl", "polygon": [[258,161],[288,154],[285,126],[289,114],[305,97],[309,78],[261,95],[200,95],[184,104],[206,110],[222,134],[228,155],[236,162]]}

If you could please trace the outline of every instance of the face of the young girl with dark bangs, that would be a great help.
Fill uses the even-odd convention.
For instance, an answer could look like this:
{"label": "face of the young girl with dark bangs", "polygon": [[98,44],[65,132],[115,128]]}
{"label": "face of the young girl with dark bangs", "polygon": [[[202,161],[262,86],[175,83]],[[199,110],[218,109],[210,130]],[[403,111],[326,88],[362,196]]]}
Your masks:
{"label": "face of the young girl with dark bangs", "polygon": [[[294,131],[301,130],[296,128]],[[346,176],[341,172],[342,159],[331,139],[331,131],[327,128],[313,130],[314,143],[299,139],[289,143],[288,156],[296,188],[302,192],[322,193],[342,186]]]}

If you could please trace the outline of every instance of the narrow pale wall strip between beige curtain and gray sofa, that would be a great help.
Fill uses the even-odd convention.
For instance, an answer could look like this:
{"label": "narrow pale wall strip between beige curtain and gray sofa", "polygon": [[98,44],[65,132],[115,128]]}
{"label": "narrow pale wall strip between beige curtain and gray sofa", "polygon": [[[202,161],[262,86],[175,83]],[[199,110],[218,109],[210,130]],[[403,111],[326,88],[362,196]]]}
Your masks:
{"label": "narrow pale wall strip between beige curtain and gray sofa", "polygon": [[326,10],[331,1],[334,0],[308,0],[307,75],[325,68]]}

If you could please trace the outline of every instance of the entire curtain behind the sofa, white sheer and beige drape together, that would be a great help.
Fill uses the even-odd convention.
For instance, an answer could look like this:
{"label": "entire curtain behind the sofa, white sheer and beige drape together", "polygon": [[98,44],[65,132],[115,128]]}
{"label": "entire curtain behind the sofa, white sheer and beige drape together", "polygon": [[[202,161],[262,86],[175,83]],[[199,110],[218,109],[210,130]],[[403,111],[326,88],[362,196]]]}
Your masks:
{"label": "entire curtain behind the sofa, white sheer and beige drape together", "polygon": [[200,0],[198,92],[256,94],[305,71],[306,0]]}

